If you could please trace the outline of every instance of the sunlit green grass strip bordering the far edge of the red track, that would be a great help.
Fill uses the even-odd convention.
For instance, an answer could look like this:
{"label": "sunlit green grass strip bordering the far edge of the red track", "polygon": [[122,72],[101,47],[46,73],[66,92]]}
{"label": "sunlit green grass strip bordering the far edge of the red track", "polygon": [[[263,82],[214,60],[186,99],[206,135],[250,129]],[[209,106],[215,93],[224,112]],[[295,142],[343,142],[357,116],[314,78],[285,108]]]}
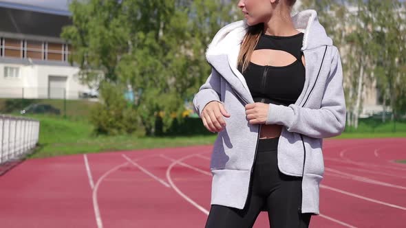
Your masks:
{"label": "sunlit green grass strip bordering the far edge of the red track", "polygon": [[[30,158],[72,155],[83,152],[213,144],[216,137],[215,134],[191,137],[144,137],[142,133],[120,136],[95,136],[92,133],[92,125],[85,119],[72,120],[43,115],[30,115],[30,117],[39,119],[41,122],[39,147],[30,155]],[[403,131],[396,133],[391,132],[392,125],[393,123],[383,124],[372,133],[368,132],[370,129],[361,123],[358,131],[344,132],[339,137],[334,137],[334,139],[406,137],[406,124],[397,123],[396,129]]]}

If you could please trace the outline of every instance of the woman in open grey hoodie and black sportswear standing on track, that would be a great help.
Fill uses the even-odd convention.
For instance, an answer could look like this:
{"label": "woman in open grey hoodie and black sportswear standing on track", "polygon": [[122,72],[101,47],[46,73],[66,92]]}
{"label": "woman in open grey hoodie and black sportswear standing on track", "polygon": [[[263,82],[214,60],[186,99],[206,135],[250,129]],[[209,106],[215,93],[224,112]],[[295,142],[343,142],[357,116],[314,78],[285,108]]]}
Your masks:
{"label": "woman in open grey hoodie and black sportswear standing on track", "polygon": [[323,138],[345,128],[338,49],[317,12],[290,16],[295,0],[240,0],[244,20],[206,50],[211,75],[193,98],[217,132],[206,228],[308,227],[319,214]]}

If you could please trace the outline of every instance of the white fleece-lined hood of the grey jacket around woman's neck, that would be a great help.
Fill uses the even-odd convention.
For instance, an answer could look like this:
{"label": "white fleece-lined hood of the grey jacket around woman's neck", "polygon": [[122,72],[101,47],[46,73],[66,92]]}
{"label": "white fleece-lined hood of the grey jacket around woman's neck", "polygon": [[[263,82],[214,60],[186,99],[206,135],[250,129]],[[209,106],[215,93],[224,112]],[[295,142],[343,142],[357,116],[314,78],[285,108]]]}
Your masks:
{"label": "white fleece-lined hood of the grey jacket around woman's neck", "polygon": [[[332,39],[327,36],[323,25],[319,23],[315,10],[297,12],[292,16],[292,22],[295,28],[304,34],[302,51],[332,45]],[[248,26],[244,19],[222,27],[207,47],[206,59],[211,62],[210,56],[212,55],[230,54],[231,49],[235,49],[235,46],[241,44]]]}

